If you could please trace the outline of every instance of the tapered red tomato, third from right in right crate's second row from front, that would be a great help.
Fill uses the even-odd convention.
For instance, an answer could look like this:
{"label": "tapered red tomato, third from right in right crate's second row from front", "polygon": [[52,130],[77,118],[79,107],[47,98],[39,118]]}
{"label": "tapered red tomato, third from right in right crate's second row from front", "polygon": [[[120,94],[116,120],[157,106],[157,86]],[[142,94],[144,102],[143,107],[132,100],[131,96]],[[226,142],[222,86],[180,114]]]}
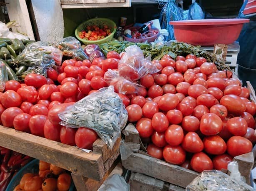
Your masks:
{"label": "tapered red tomato, third from right in right crate's second row from front", "polygon": [[203,141],[196,134],[196,132],[188,132],[185,135],[181,146],[187,152],[197,153],[203,150]]}

